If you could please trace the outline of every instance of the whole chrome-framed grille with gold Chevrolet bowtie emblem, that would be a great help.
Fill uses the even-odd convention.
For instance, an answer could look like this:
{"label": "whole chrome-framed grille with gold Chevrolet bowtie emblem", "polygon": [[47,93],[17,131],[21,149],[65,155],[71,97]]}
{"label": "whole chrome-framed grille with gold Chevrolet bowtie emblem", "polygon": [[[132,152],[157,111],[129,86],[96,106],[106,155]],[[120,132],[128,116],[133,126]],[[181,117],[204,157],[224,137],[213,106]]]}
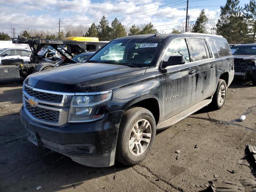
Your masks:
{"label": "whole chrome-framed grille with gold Chevrolet bowtie emblem", "polygon": [[75,93],[42,90],[25,83],[22,92],[24,110],[32,120],[53,126],[67,123],[71,98]]}

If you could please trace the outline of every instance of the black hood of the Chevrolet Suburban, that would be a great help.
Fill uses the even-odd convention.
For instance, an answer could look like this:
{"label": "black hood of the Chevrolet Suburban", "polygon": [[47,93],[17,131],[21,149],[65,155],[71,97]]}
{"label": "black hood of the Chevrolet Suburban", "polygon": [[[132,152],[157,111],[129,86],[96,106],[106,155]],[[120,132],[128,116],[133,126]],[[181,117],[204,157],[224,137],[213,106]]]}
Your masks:
{"label": "black hood of the Chevrolet Suburban", "polygon": [[131,78],[146,72],[146,68],[123,65],[82,63],[54,68],[28,76],[25,83],[39,89],[60,92],[91,92],[99,85]]}

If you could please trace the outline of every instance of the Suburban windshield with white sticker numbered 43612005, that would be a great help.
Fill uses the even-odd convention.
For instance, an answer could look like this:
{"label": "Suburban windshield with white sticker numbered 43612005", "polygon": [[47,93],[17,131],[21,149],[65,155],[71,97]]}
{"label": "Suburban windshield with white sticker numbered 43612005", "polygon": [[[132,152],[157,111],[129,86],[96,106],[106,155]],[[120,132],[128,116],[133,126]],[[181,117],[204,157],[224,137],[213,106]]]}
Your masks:
{"label": "Suburban windshield with white sticker numbered 43612005", "polygon": [[161,39],[113,40],[87,62],[120,64],[130,67],[147,67],[155,64]]}

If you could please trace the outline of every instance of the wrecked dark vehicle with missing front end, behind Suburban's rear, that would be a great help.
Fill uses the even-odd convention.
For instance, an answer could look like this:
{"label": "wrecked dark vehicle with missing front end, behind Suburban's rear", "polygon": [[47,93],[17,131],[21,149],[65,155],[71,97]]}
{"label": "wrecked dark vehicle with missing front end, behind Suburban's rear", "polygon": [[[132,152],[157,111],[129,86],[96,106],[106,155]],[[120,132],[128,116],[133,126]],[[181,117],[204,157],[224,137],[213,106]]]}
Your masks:
{"label": "wrecked dark vehicle with missing front end, behind Suburban's rear", "polygon": [[256,44],[235,44],[231,50],[234,50],[235,76],[252,80],[256,85]]}

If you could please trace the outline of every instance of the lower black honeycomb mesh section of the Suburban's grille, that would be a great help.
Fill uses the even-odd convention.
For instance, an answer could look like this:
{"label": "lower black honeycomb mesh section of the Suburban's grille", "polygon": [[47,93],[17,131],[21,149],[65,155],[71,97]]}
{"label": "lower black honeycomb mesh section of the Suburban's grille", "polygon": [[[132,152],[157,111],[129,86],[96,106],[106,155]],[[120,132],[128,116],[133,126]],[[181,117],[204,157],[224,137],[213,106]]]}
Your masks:
{"label": "lower black honeycomb mesh section of the Suburban's grille", "polygon": [[54,110],[49,110],[45,108],[40,108],[40,107],[32,107],[28,102],[26,102],[26,108],[32,114],[34,117],[43,120],[43,121],[48,121],[48,122],[58,122],[60,112],[59,111],[54,111]]}

